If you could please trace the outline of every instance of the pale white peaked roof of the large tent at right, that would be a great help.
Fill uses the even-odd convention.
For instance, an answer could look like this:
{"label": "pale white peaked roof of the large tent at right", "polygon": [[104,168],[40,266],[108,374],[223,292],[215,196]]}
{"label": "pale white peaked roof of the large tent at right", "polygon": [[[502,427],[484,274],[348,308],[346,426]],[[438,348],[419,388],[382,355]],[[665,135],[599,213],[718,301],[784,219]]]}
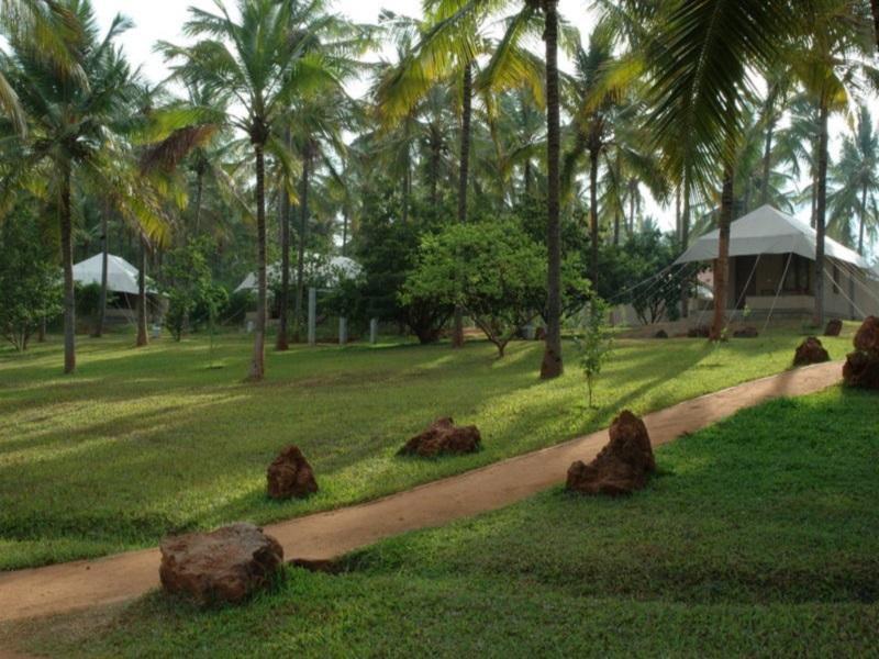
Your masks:
{"label": "pale white peaked roof of the large tent at right", "polygon": [[[717,258],[720,230],[696,241],[676,264],[713,260]],[[815,260],[815,230],[797,217],[770,205],[763,205],[730,225],[730,256],[758,254],[799,254]],[[867,259],[832,238],[825,238],[824,252],[841,261],[859,268],[869,268]]]}

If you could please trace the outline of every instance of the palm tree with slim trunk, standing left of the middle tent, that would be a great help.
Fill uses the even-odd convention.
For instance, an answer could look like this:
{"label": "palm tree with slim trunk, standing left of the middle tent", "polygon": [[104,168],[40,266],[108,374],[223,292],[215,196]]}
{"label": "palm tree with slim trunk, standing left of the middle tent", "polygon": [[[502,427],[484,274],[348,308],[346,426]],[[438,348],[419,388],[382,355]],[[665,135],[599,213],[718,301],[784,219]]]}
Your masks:
{"label": "palm tree with slim trunk, standing left of the middle tent", "polygon": [[257,317],[248,377],[265,377],[267,321],[266,278],[266,154],[289,163],[283,139],[286,113],[297,93],[312,92],[333,81],[316,53],[307,53],[309,40],[291,38],[296,3],[291,0],[237,0],[234,20],[221,0],[218,13],[190,8],[185,31],[202,37],[183,47],[160,44],[169,59],[178,60],[177,74],[190,85],[212,92],[227,92],[233,102],[226,111],[229,125],[251,141],[256,175]]}

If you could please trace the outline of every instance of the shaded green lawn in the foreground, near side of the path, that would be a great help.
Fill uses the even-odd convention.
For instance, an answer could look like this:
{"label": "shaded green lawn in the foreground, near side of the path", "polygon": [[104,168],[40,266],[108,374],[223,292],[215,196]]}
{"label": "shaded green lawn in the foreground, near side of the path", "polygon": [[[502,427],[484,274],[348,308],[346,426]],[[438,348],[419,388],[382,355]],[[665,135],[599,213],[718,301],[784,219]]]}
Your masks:
{"label": "shaded green lawn in the foreground, near side of the path", "polygon": [[242,607],[154,593],[0,637],[58,657],[875,655],[878,410],[842,388],[774,401],[659,448],[631,498],[557,488],[338,576],[288,568]]}

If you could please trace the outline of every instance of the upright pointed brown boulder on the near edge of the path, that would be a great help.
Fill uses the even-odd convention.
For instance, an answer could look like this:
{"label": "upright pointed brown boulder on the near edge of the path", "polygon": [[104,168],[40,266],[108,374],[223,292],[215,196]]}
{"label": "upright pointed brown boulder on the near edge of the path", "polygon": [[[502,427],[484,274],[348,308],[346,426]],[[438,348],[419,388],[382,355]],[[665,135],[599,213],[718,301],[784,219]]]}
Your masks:
{"label": "upright pointed brown boulder on the near edge of the path", "polygon": [[613,420],[611,440],[589,465],[578,460],[568,469],[568,490],[583,494],[631,494],[656,471],[650,437],[644,422],[628,410]]}

